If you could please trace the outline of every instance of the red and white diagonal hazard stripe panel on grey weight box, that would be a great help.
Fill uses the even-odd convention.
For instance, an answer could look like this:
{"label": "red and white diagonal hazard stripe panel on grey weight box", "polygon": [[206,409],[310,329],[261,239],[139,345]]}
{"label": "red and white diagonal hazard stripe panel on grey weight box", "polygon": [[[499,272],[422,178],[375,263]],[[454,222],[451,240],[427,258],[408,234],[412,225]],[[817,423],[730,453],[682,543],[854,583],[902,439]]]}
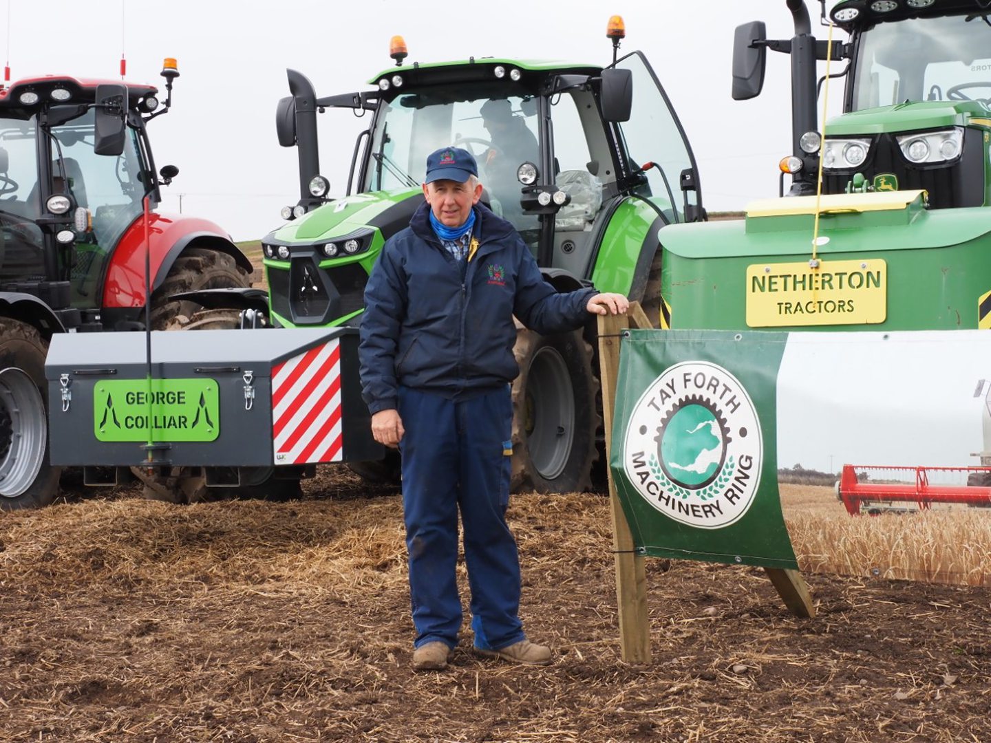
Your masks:
{"label": "red and white diagonal hazard stripe panel on grey weight box", "polygon": [[272,420],[276,465],[341,460],[338,340],[292,357],[273,369]]}

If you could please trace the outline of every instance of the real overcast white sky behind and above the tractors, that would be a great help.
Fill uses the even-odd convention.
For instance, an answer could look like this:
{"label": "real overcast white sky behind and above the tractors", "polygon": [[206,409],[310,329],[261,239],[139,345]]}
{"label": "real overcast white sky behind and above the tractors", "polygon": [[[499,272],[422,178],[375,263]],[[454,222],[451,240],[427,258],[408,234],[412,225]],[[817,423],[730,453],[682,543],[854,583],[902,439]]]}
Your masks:
{"label": "real overcast white sky behind and above the tractors", "polygon": [[[825,39],[819,3],[808,4]],[[162,59],[176,57],[174,105],[151,125],[157,164],[180,170],[163,209],[178,211],[181,193],[183,213],[211,218],[239,241],[278,227],[279,207],[298,197],[295,149],[275,139],[275,104],[288,94],[285,68],[306,74],[320,96],[369,89],[367,80],[392,64],[394,34],[406,40],[407,62],[475,55],[606,63],[606,21],[620,14],[620,52],[641,50],[657,71],[692,142],[710,210],[777,195],[777,162],[789,154],[786,55],[769,54],[759,98],[729,95],[734,28],[764,20],[770,37],[790,38],[784,0],[0,0],[0,22],[8,13],[0,51],[14,80],[50,73],[114,79],[123,51],[129,80],[161,84]],[[833,92],[840,89],[835,83]],[[355,135],[369,120],[328,111],[319,121],[321,170],[332,193],[343,193]]]}

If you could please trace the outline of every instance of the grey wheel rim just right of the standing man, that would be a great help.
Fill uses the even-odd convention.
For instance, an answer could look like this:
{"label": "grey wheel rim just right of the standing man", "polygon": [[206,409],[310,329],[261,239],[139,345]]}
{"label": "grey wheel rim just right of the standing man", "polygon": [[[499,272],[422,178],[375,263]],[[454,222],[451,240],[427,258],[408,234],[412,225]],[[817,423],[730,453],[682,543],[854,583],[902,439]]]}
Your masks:
{"label": "grey wheel rim just right of the standing man", "polygon": [[526,445],[530,462],[544,479],[564,472],[575,439],[575,392],[568,365],[544,346],[533,356],[526,378]]}

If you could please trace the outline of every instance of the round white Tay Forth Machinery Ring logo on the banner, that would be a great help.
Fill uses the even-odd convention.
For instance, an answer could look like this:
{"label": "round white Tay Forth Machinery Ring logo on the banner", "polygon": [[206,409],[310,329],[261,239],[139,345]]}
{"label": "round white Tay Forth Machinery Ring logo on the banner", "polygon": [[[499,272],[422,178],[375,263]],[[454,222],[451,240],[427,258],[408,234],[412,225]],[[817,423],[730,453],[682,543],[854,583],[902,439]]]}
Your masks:
{"label": "round white Tay Forth Machinery Ring logo on the banner", "polygon": [[739,380],[716,364],[683,362],[654,379],[634,406],[623,470],[661,513],[718,529],[750,508],[762,454],[757,411]]}

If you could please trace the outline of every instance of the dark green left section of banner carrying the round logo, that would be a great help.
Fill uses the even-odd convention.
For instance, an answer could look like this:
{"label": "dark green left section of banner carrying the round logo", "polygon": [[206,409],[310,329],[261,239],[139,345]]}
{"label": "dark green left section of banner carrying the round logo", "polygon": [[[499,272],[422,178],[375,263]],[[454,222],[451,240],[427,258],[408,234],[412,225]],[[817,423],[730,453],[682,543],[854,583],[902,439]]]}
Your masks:
{"label": "dark green left section of banner carrying the round logo", "polygon": [[631,330],[609,467],[645,555],[797,568],[777,480],[787,334]]}

